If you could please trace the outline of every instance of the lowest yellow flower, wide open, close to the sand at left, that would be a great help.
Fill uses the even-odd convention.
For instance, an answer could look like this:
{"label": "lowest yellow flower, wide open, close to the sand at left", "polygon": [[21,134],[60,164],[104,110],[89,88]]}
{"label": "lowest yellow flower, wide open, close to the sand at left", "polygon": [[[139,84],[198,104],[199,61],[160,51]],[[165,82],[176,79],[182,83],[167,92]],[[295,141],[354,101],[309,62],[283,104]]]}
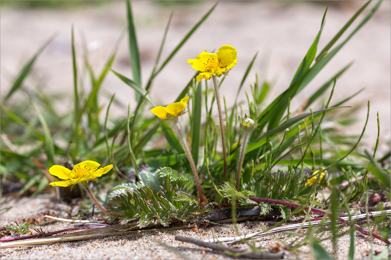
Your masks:
{"label": "lowest yellow flower, wide open, close to the sand at left", "polygon": [[63,181],[50,182],[49,184],[52,186],[61,187],[68,187],[69,185],[72,185],[72,191],[72,188],[76,183],[94,180],[95,178],[100,177],[105,173],[108,173],[113,168],[113,164],[98,169],[99,166],[100,164],[97,162],[84,161],[79,164],[76,164],[71,171],[64,166],[53,165],[52,167],[50,167],[49,173],[51,175],[57,176],[60,179],[63,179]]}

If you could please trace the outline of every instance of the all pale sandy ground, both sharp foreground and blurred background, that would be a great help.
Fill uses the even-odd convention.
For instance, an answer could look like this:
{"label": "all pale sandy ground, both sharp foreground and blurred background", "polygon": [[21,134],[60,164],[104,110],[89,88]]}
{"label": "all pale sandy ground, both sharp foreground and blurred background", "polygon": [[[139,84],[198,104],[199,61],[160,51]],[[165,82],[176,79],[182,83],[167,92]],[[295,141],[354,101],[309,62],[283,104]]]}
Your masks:
{"label": "all pale sandy ground, both sharp foreground and blurred background", "polygon": [[[142,59],[142,80],[149,77],[159,43],[171,10],[174,17],[163,49],[162,59],[181,41],[188,30],[212,7],[215,1],[203,1],[174,5],[161,5],[158,2],[133,1],[133,12],[137,27],[138,45]],[[245,101],[245,90],[254,82],[255,71],[260,79],[271,80],[274,84],[268,101],[273,100],[286,89],[295,69],[300,64],[316,36],[323,12],[329,5],[326,25],[320,41],[323,48],[337,31],[363,4],[361,1],[336,4],[335,2],[269,2],[269,1],[221,1],[213,14],[179,50],[170,64],[156,77],[151,96],[155,103],[165,105],[176,98],[179,91],[194,75],[187,59],[195,58],[202,50],[217,50],[222,45],[237,48],[239,62],[230,72],[229,80],[224,82],[221,94],[230,104],[235,98],[237,87],[253,55],[259,52],[253,71],[240,93],[239,100]],[[292,107],[300,104],[314,93],[317,87],[328,80],[337,70],[354,61],[353,66],[339,78],[334,93],[334,102],[343,100],[355,91],[365,87],[365,91],[355,97],[348,105],[361,106],[356,111],[358,123],[348,132],[359,134],[366,116],[366,102],[371,100],[370,123],[366,130],[365,142],[373,148],[376,141],[376,112],[379,111],[380,149],[389,150],[391,137],[391,2],[382,3],[377,14],[344,46],[339,55],[307,86],[300,96],[292,101]],[[88,46],[88,56],[96,71],[101,71],[115,42],[126,26],[125,4],[122,1],[99,6],[82,5],[76,9],[11,9],[0,10],[0,95],[9,90],[13,77],[23,64],[54,32],[58,36],[41,54],[34,66],[34,77],[25,83],[34,87],[37,82],[50,93],[72,93],[72,64],[70,52],[70,28],[75,27],[76,51],[79,68],[82,65],[83,39]],[[128,60],[127,40],[122,40],[113,69],[132,78]],[[88,85],[88,84],[86,84]],[[87,86],[88,88],[88,86]],[[114,106],[111,116],[126,114],[127,103],[135,107],[133,91],[113,74],[104,81],[102,93],[116,93],[116,98],[124,106]],[[17,97],[14,102],[17,102]],[[102,98],[104,109],[108,99]],[[61,106],[61,105],[59,105]],[[314,108],[316,109],[316,108]],[[8,201],[6,201],[8,200]],[[1,224],[9,224],[16,218],[34,217],[52,210],[59,216],[70,210],[69,205],[57,203],[53,196],[43,194],[35,199],[2,198]],[[239,224],[241,234],[260,230],[264,223],[249,221]],[[72,227],[70,224],[53,223],[47,231]],[[217,236],[233,236],[231,224],[224,227],[212,226]],[[212,227],[206,230],[192,229],[165,231],[154,230],[134,235],[92,239],[82,242],[66,242],[47,246],[2,249],[2,259],[233,259],[225,254],[215,253],[192,244],[174,241],[175,235],[206,239],[212,237]],[[303,230],[305,232],[305,230]],[[284,239],[287,235],[276,235]],[[266,249],[274,247],[273,237],[256,240],[256,246]],[[339,241],[337,258],[346,258],[349,236]],[[323,244],[331,253],[329,242]],[[241,246],[239,246],[241,247]],[[374,243],[374,251],[386,248],[383,242]],[[356,259],[369,258],[369,242],[357,234]],[[204,251],[203,251],[204,250]],[[301,253],[285,251],[285,258],[311,258],[308,247],[300,248]]]}

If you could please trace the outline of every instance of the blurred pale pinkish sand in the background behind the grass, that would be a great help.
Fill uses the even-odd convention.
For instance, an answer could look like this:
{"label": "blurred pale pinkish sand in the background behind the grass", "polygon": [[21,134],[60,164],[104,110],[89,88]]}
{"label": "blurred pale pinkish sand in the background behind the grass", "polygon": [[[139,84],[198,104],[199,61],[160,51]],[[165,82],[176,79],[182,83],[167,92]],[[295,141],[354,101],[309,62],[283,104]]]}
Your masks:
{"label": "blurred pale pinkish sand in the background behind the grass", "polygon": [[[124,1],[99,1],[99,3],[86,1],[56,6],[51,2],[50,7],[32,8],[23,2],[13,5],[1,1],[0,94],[4,98],[14,76],[23,64],[50,36],[57,32],[58,36],[39,56],[34,66],[33,77],[29,77],[25,85],[34,87],[36,84],[42,84],[45,91],[67,93],[71,100],[73,76],[70,32],[72,24],[75,28],[78,68],[81,69],[83,65],[83,41],[85,41],[89,59],[97,75],[104,68],[115,42],[126,27],[126,4]],[[170,12],[174,11],[174,17],[161,61],[169,55],[188,30],[215,2],[132,1],[138,47],[141,52],[143,86],[151,73]],[[212,52],[226,44],[237,49],[239,60],[235,68],[230,71],[230,76],[225,80],[221,89],[221,94],[226,96],[228,106],[233,103],[240,80],[256,52],[259,52],[258,58],[244,84],[239,100],[246,102],[244,91],[250,91],[249,84],[254,82],[255,71],[257,71],[260,80],[267,79],[274,84],[268,97],[268,101],[271,101],[289,86],[294,72],[316,37],[326,6],[329,5],[329,8],[318,50],[321,50],[346,21],[365,4],[364,1],[217,2],[218,5],[212,15],[155,78],[151,96],[157,105],[167,105],[173,102],[179,91],[194,75],[195,71],[187,64],[187,59],[194,59],[203,50]],[[374,3],[370,7],[373,5]],[[358,20],[361,21],[362,17],[364,16]],[[357,22],[354,23],[354,25],[357,24]],[[112,68],[133,78],[127,46],[126,36],[119,46]],[[353,61],[353,66],[337,80],[331,103],[341,101],[365,87],[365,91],[346,103],[354,107],[361,106],[355,112],[358,122],[348,129],[348,132],[361,133],[369,99],[371,100],[371,112],[364,141],[369,148],[374,147],[377,135],[376,112],[378,111],[381,124],[380,143],[382,146],[380,147],[383,150],[389,150],[391,136],[390,46],[391,2],[385,1],[373,18],[310,82],[300,96],[292,100],[291,111],[300,107],[305,98],[314,93],[334,73]],[[80,74],[83,75],[83,72]],[[85,71],[83,77],[87,78]],[[85,87],[88,89],[88,81],[85,80],[85,82]],[[113,106],[111,116],[125,115],[125,107],[129,102],[133,108],[135,107],[133,90],[109,73],[103,83],[102,94],[109,97],[112,93],[116,93],[117,100],[124,106]],[[17,98],[13,100],[17,102]],[[109,98],[101,98],[104,109],[108,101]],[[64,106],[64,104],[58,105]],[[320,104],[312,105],[312,109],[320,109]]]}

